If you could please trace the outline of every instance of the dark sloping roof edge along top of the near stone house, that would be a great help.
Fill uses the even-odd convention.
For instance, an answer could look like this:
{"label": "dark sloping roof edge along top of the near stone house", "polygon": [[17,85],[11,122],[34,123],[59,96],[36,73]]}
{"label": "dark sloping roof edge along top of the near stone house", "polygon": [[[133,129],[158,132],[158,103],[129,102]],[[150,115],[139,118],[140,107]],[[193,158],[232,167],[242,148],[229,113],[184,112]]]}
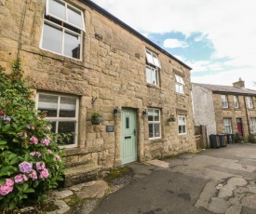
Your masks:
{"label": "dark sloping roof edge along top of the near stone house", "polygon": [[178,62],[180,62],[184,67],[186,67],[189,70],[192,70],[191,67],[189,67],[188,65],[186,65],[184,62],[182,62],[181,60],[178,60],[177,58],[175,58],[174,56],[172,56],[170,53],[168,53],[168,51],[166,51],[165,49],[163,49],[162,47],[158,47],[157,45],[155,45],[154,42],[152,42],[151,40],[149,40],[148,38],[146,38],[145,36],[143,36],[141,33],[135,31],[133,28],[131,28],[130,26],[128,26],[128,24],[126,24],[125,22],[123,22],[122,20],[117,19],[114,15],[112,15],[111,13],[109,13],[108,11],[106,11],[105,9],[103,9],[102,7],[98,6],[97,4],[95,4],[94,2],[90,1],[90,0],[78,0],[82,3],[84,3],[85,5],[87,5],[88,7],[92,7],[93,9],[95,9],[96,11],[98,11],[99,13],[101,13],[101,15],[103,15],[104,17],[108,18],[109,20],[113,20],[116,24],[120,25],[122,28],[126,29],[129,33],[132,33],[134,35],[136,35],[137,37],[139,37],[141,40],[143,40],[144,42],[148,43],[149,45],[151,45],[152,47],[155,47],[156,49],[158,49],[159,51],[161,51],[163,54],[167,55],[169,58],[176,60]]}

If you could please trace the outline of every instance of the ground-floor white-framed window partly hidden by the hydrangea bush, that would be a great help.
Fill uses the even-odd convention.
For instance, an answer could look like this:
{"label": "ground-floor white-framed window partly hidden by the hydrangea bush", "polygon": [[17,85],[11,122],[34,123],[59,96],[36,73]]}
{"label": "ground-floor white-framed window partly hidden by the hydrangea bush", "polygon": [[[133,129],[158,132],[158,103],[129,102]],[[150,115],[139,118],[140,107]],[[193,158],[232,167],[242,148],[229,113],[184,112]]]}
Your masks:
{"label": "ground-floor white-framed window partly hidden by the hydrangea bush", "polygon": [[36,108],[46,111],[46,119],[51,121],[54,133],[74,133],[69,140],[64,140],[65,147],[77,146],[78,136],[78,109],[77,97],[59,94],[36,94]]}

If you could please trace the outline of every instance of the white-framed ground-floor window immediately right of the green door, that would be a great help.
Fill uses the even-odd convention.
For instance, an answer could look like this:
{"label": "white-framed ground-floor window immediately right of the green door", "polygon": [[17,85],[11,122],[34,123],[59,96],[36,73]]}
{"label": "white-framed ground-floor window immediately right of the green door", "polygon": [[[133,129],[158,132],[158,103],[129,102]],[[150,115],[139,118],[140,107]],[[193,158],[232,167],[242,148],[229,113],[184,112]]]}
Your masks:
{"label": "white-framed ground-floor window immediately right of the green door", "polygon": [[160,109],[148,109],[149,139],[161,138],[161,111]]}

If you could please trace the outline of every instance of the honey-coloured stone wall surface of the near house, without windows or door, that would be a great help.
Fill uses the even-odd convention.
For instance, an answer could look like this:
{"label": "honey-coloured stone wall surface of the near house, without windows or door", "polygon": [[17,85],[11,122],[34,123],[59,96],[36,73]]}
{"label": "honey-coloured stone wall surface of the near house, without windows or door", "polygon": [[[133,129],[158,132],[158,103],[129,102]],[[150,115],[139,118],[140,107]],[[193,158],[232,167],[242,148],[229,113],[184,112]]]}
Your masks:
{"label": "honey-coloured stone wall surface of the near house, without windows or door", "polygon": [[[69,3],[85,15],[82,60],[40,48],[45,1],[0,0],[0,65],[9,72],[12,61],[20,58],[27,83],[35,91],[79,97],[78,147],[66,150],[67,165],[121,165],[121,117],[115,118],[115,106],[137,111],[138,160],[194,151],[189,68],[93,8],[76,0]],[[160,87],[146,83],[146,48],[155,52],[161,63]],[[184,76],[183,95],[175,92],[173,69]],[[149,107],[161,110],[159,140],[148,140],[148,121],[141,113]],[[95,110],[104,115],[99,126],[90,122],[90,114]],[[179,136],[177,120],[167,120],[170,114],[177,118],[181,111],[187,116],[187,133]],[[106,132],[107,125],[115,126],[115,132]]]}

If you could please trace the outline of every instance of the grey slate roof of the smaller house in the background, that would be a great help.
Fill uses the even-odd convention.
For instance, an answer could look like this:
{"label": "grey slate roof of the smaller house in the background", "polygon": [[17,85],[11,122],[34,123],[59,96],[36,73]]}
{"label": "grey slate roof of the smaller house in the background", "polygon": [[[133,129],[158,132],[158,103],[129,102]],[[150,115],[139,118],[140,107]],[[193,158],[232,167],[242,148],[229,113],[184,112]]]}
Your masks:
{"label": "grey slate roof of the smaller house in the background", "polygon": [[192,83],[193,85],[205,87],[215,93],[233,93],[233,94],[243,94],[243,95],[255,95],[256,90],[251,90],[245,87],[230,87],[230,86],[220,86],[220,85],[210,85],[210,84],[200,84]]}

